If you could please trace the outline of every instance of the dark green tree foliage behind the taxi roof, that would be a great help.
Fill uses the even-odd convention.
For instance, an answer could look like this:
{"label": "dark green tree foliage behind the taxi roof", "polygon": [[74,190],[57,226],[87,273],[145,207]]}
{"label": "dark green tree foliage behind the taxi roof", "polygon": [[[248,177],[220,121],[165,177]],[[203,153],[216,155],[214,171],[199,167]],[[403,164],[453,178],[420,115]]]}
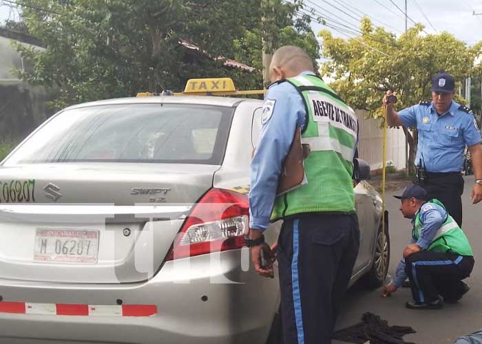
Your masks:
{"label": "dark green tree foliage behind the taxi roof", "polygon": [[[300,4],[269,0],[273,47],[286,43],[319,57]],[[20,76],[59,89],[54,106],[140,91],[180,90],[188,78],[230,76],[240,89],[262,87],[261,0],[24,0],[23,21],[45,51],[17,46],[33,62]],[[28,7],[30,6],[30,7]],[[39,10],[39,8],[43,10]],[[180,41],[199,47],[188,50]],[[233,58],[253,73],[227,68]]]}

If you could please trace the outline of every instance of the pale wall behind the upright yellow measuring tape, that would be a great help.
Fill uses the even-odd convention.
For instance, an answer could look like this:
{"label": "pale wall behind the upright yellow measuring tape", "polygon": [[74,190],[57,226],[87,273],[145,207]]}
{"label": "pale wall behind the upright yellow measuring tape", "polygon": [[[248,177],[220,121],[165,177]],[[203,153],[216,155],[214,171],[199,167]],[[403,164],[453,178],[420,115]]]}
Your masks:
{"label": "pale wall behind the upright yellow measuring tape", "polygon": [[[366,119],[368,111],[365,110],[356,110],[355,112],[359,121],[359,158],[366,160],[372,170],[381,169],[384,141],[381,119]],[[396,169],[404,169],[406,167],[404,131],[401,128],[387,129],[386,139],[386,161],[392,162]]]}

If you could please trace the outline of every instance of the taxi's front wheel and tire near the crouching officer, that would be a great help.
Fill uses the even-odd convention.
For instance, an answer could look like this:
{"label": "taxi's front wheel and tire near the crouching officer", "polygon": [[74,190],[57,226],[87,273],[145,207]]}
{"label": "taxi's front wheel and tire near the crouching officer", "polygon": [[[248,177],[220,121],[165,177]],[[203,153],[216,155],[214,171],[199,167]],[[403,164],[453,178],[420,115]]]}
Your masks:
{"label": "taxi's front wheel and tire near the crouching officer", "polygon": [[[382,247],[385,246],[382,253]],[[390,235],[388,234],[388,223],[385,225],[385,235],[381,225],[377,231],[377,241],[375,242],[375,253],[373,255],[373,264],[370,270],[362,277],[362,285],[366,288],[378,288],[383,286],[390,265]]]}

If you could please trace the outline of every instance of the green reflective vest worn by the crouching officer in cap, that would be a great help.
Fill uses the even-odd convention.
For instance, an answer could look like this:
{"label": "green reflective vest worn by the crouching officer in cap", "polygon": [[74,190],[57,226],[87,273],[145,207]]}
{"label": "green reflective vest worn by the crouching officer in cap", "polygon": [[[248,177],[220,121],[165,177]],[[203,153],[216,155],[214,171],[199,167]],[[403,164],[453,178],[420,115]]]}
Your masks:
{"label": "green reflective vest worn by the crouching officer in cap", "polygon": [[[430,203],[437,204],[445,209],[443,204],[439,200],[430,200]],[[415,225],[412,230],[412,237],[417,241],[420,237],[420,231],[423,227],[423,223],[420,220],[420,210],[417,212],[415,217]],[[437,233],[432,240],[432,243],[428,246],[427,250],[446,253],[454,252],[457,255],[472,256],[472,248],[470,247],[469,241],[463,233],[463,230],[459,227],[457,222],[448,215],[445,222],[437,230]]]}

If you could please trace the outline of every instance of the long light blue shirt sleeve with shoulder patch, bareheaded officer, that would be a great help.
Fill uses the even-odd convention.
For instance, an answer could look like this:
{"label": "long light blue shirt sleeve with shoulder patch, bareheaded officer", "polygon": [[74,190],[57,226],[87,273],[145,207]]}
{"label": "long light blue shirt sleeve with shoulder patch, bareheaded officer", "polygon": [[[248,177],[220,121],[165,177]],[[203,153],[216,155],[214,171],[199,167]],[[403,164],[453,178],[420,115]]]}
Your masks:
{"label": "long light blue shirt sleeve with shoulder patch, bareheaded officer", "polygon": [[[307,74],[314,75],[300,75]],[[251,161],[249,228],[268,228],[283,160],[295,129],[303,128],[305,121],[304,101],[297,89],[287,82],[271,85],[264,100],[260,142]]]}

